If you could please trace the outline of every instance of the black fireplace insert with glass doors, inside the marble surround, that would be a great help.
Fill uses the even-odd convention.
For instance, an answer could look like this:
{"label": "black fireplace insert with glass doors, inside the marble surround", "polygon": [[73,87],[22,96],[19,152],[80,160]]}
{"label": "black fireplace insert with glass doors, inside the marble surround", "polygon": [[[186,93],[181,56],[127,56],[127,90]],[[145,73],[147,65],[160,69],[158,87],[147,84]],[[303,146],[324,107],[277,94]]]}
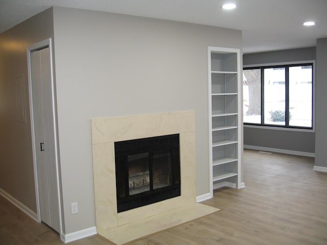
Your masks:
{"label": "black fireplace insert with glass doors, inside the marble surround", "polygon": [[117,211],[180,195],[179,134],[114,143]]}

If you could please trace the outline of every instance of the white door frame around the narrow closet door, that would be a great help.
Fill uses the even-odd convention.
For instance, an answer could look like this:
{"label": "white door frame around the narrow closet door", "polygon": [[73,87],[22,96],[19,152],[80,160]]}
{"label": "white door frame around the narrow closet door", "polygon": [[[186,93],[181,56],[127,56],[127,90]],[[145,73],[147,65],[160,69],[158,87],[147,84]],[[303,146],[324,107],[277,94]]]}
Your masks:
{"label": "white door frame around the narrow closet door", "polygon": [[53,124],[54,124],[54,144],[55,144],[55,164],[56,164],[56,179],[58,189],[58,207],[59,207],[59,225],[60,225],[60,237],[63,234],[62,230],[62,209],[61,209],[61,189],[60,189],[60,178],[59,178],[59,151],[58,151],[58,132],[57,132],[57,113],[56,113],[56,99],[55,99],[55,86],[53,76],[53,52],[52,52],[52,39],[45,39],[38,43],[32,44],[27,47],[27,63],[28,63],[28,80],[29,80],[29,99],[30,99],[30,119],[31,119],[31,133],[32,133],[32,151],[33,151],[33,166],[34,166],[34,181],[35,181],[35,195],[36,195],[36,211],[37,211],[37,222],[41,223],[40,213],[40,200],[39,200],[39,189],[38,189],[38,174],[36,164],[36,149],[39,149],[35,142],[35,131],[34,131],[34,113],[33,113],[33,91],[32,91],[32,72],[31,72],[31,53],[33,51],[41,50],[42,48],[49,47],[50,51],[50,70],[51,70],[51,92],[52,92],[52,113],[53,113]]}

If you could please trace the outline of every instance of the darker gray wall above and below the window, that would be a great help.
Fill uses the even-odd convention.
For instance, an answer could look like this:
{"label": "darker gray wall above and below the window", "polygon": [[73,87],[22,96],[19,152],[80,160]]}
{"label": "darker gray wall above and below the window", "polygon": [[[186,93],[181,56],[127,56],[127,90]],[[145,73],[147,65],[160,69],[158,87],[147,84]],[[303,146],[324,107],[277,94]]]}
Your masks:
{"label": "darker gray wall above and below the window", "polygon": [[[280,62],[296,62],[316,59],[316,48],[244,54],[243,65],[258,65]],[[315,152],[315,133],[244,127],[244,145],[265,148]]]}

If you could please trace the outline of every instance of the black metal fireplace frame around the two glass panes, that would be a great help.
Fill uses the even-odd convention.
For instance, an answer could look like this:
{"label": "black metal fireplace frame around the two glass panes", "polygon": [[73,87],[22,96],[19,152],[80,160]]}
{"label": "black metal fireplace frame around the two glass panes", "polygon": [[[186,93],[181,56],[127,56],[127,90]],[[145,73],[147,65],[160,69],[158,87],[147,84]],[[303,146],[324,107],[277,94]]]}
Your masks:
{"label": "black metal fireplace frame around the two glass panes", "polygon": [[[180,196],[180,146],[179,134],[156,136],[114,142],[117,212],[146,206]],[[171,184],[153,188],[152,164],[154,152],[167,151],[171,163]],[[130,194],[128,156],[148,153],[150,190]]]}

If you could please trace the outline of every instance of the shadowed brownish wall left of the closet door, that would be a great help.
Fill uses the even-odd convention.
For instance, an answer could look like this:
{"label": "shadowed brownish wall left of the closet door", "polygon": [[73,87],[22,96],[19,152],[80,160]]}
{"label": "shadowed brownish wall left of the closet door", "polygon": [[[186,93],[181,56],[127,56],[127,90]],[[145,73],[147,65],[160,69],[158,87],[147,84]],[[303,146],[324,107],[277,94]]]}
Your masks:
{"label": "shadowed brownish wall left of the closet door", "polygon": [[[36,213],[27,46],[53,37],[52,9],[0,34],[0,188]],[[15,77],[24,78],[26,122],[16,106]]]}

